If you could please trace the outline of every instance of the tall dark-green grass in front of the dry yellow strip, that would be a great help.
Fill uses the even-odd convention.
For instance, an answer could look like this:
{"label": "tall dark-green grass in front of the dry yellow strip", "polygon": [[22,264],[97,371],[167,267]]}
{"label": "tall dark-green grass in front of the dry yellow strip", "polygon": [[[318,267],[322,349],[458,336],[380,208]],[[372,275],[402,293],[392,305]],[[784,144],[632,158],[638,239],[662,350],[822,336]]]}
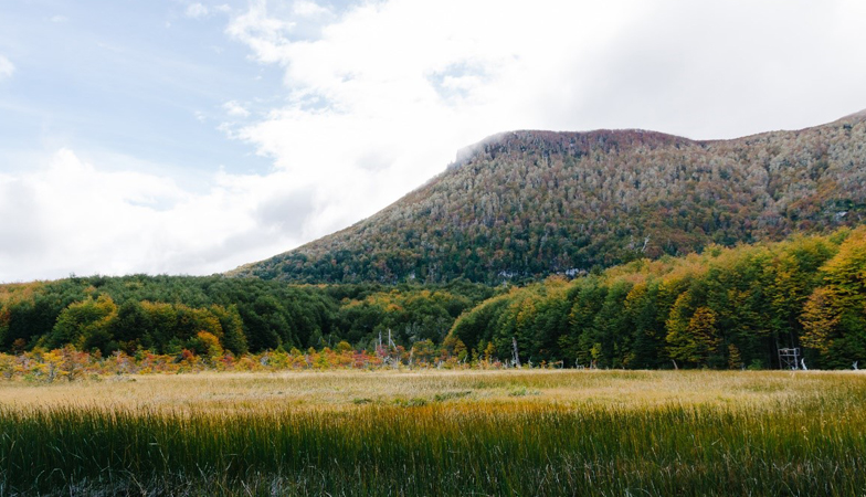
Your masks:
{"label": "tall dark-green grass in front of the dry yellow strip", "polygon": [[526,378],[540,395],[229,414],[0,409],[0,494],[855,496],[866,489],[864,390],[853,376],[823,381],[814,395],[645,409],[547,402],[543,388],[556,387],[557,377]]}

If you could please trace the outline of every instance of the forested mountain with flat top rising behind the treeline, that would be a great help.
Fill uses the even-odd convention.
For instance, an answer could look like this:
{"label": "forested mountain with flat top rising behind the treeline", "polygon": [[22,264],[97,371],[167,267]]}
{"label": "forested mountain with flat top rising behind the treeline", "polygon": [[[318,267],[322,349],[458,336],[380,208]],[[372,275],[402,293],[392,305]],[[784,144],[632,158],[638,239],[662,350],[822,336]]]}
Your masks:
{"label": "forested mountain with flat top rising behind the treeline", "polygon": [[496,284],[823,232],[864,216],[866,112],[730,140],[514,131],[461,151],[379,213],[229,274]]}

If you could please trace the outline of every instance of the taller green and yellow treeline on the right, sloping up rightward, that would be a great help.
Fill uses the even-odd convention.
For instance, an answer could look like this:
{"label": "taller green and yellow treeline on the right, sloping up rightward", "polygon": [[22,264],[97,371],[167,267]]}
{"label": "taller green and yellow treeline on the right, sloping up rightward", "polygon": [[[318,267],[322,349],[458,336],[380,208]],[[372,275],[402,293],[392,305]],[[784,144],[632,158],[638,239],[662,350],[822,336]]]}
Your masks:
{"label": "taller green and yellow treeline on the right, sloping up rightward", "polygon": [[[522,361],[609,368],[815,368],[866,359],[866,229],[642,260],[490,298],[452,336]],[[863,362],[866,366],[866,361]]]}

